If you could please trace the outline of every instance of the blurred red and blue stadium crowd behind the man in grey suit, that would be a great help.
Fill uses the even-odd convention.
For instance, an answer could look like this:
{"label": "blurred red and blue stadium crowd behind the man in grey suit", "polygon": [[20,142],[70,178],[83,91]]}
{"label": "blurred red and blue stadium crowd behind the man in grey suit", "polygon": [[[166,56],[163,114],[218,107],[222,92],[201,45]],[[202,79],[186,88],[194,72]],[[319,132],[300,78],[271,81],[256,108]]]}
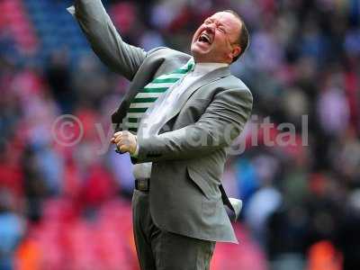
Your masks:
{"label": "blurred red and blue stadium crowd behind the man in grey suit", "polygon": [[[129,82],[94,56],[70,4],[0,0],[2,270],[138,269],[130,158],[103,140]],[[240,244],[219,244],[211,269],[360,269],[360,1],[103,4],[123,39],[147,50],[188,52],[219,10],[247,23],[250,47],[231,68],[254,116],[222,179],[244,202]],[[56,136],[64,114],[81,122],[66,127],[75,144]]]}

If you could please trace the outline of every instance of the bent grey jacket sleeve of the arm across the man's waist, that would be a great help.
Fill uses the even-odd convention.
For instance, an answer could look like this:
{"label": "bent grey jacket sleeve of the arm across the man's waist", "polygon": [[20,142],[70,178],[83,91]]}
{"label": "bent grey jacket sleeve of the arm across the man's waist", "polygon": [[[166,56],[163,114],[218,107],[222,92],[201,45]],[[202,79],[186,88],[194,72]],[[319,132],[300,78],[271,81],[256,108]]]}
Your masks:
{"label": "bent grey jacket sleeve of the arm across the man's waist", "polygon": [[135,163],[202,157],[231,145],[244,129],[253,97],[245,89],[216,94],[199,121],[179,130],[138,138]]}

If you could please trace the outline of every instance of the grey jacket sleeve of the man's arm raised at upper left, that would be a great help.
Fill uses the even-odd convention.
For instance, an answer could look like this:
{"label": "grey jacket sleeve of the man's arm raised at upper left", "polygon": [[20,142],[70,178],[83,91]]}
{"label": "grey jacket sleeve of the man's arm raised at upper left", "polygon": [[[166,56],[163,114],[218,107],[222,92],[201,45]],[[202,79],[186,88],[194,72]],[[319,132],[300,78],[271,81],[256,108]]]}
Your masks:
{"label": "grey jacket sleeve of the man's arm raised at upper left", "polygon": [[101,0],[76,0],[75,6],[67,10],[76,18],[103,63],[112,71],[132,80],[147,52],[121,39]]}

